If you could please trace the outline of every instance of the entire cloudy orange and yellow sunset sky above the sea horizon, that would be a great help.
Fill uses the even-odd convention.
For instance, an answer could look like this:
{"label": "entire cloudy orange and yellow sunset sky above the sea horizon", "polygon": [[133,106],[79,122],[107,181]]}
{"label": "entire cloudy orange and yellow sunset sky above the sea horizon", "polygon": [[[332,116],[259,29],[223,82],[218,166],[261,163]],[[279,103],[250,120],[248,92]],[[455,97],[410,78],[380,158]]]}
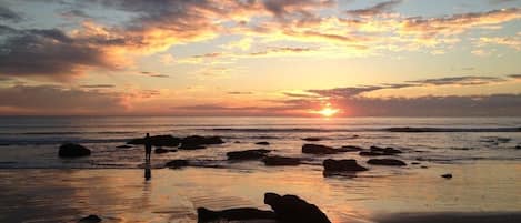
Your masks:
{"label": "entire cloudy orange and yellow sunset sky above the sea horizon", "polygon": [[521,115],[521,0],[0,0],[0,115]]}

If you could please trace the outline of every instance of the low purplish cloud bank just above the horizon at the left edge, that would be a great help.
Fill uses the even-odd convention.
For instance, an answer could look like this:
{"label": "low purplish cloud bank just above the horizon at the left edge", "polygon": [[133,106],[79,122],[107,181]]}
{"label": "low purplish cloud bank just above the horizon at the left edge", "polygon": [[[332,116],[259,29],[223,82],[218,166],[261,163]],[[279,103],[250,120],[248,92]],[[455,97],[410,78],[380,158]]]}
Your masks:
{"label": "low purplish cloud bank just above the horizon at the left edge", "polygon": [[[13,85],[0,88],[0,113],[18,114],[109,114],[122,113],[121,94],[58,85]],[[57,100],[50,100],[57,99]]]}

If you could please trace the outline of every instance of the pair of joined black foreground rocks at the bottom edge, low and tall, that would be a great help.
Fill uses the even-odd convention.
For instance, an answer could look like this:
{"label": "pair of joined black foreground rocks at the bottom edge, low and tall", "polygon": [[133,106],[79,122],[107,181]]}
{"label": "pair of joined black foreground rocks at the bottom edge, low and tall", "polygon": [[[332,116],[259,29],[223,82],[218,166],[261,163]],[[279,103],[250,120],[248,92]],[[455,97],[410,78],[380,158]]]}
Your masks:
{"label": "pair of joined black foreground rocks at the bottom edge, low and tall", "polygon": [[314,204],[295,195],[279,195],[277,193],[265,193],[264,203],[271,206],[272,211],[259,209],[229,209],[222,211],[211,211],[199,207],[198,222],[219,221],[249,221],[249,220],[273,220],[285,223],[330,223],[328,216]]}

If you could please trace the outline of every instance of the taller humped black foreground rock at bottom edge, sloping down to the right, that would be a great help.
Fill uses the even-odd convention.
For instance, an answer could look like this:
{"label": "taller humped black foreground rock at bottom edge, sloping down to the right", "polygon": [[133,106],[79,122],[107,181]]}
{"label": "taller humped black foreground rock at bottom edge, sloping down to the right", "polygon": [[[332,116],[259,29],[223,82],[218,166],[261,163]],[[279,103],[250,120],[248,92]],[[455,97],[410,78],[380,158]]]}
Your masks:
{"label": "taller humped black foreground rock at bottom edge, sloping down to the right", "polygon": [[271,206],[280,222],[331,223],[319,207],[295,195],[281,196],[275,193],[265,193],[264,203]]}

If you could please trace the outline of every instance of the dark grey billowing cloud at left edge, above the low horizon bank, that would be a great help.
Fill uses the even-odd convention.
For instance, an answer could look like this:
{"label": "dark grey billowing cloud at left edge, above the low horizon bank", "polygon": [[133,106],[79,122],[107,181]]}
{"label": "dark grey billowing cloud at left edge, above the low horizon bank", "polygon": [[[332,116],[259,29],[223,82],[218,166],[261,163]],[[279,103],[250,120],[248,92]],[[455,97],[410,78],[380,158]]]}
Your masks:
{"label": "dark grey billowing cloud at left edge, above the low horizon bank", "polygon": [[118,44],[98,37],[74,39],[58,29],[0,26],[0,75],[40,77],[68,81],[84,70],[118,69],[103,45]]}

